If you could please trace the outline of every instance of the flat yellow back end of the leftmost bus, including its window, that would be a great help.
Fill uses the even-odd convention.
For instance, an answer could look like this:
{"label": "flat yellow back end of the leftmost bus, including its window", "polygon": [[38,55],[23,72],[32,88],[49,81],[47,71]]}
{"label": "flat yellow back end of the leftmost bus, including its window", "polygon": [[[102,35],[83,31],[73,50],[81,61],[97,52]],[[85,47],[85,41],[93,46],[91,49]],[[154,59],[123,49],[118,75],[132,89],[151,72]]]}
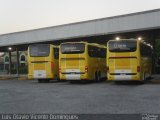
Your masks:
{"label": "flat yellow back end of the leftmost bus, including its window", "polygon": [[[52,50],[52,49],[51,49]],[[29,47],[29,79],[51,79],[53,75],[53,61],[50,45],[31,45]]]}

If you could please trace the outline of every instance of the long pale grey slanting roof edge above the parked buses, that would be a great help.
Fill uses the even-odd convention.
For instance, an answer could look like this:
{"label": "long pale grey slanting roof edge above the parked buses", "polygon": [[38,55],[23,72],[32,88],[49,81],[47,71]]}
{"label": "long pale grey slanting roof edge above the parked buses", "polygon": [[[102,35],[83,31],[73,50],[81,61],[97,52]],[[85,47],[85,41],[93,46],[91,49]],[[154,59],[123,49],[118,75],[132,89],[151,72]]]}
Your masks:
{"label": "long pale grey slanting roof edge above the parked buses", "polygon": [[0,46],[160,28],[160,9],[0,35]]}

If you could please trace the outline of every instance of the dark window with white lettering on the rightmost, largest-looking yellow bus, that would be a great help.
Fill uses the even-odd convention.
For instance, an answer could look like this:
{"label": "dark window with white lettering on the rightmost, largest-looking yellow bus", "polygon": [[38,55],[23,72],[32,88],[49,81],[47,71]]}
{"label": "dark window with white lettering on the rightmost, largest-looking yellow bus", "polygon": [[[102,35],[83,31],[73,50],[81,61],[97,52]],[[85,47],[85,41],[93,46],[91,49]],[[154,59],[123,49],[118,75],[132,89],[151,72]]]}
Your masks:
{"label": "dark window with white lettering on the rightmost, largest-looking yellow bus", "polygon": [[121,41],[110,41],[109,51],[110,52],[135,52],[137,49],[136,41],[121,40]]}

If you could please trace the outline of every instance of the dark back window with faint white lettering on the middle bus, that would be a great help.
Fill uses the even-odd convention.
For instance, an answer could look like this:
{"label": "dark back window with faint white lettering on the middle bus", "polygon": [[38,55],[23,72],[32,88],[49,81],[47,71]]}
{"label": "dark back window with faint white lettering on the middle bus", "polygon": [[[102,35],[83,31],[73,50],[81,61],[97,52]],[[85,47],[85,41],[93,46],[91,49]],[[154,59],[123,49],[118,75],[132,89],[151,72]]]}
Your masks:
{"label": "dark back window with faint white lettering on the middle bus", "polygon": [[84,53],[85,44],[84,43],[65,43],[61,45],[62,54],[78,54]]}

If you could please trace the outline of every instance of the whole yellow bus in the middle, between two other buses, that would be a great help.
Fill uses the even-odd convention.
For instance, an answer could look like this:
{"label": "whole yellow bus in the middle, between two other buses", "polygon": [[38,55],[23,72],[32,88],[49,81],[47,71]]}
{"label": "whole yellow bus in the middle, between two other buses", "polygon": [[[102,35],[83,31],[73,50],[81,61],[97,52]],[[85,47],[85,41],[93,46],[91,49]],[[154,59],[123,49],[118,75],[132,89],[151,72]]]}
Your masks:
{"label": "whole yellow bus in the middle, between two other buses", "polygon": [[61,80],[96,80],[106,77],[106,47],[96,43],[66,42],[60,45]]}

